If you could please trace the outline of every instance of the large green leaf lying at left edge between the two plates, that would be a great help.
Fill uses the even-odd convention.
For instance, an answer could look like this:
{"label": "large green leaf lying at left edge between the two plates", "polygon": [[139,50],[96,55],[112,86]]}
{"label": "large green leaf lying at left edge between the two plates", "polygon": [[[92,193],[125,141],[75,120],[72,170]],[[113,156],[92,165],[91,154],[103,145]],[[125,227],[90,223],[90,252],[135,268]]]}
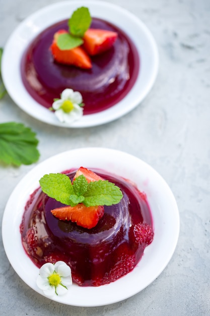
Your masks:
{"label": "large green leaf lying at left edge between the two plates", "polygon": [[0,161],[7,165],[31,165],[39,159],[38,139],[24,124],[0,124]]}

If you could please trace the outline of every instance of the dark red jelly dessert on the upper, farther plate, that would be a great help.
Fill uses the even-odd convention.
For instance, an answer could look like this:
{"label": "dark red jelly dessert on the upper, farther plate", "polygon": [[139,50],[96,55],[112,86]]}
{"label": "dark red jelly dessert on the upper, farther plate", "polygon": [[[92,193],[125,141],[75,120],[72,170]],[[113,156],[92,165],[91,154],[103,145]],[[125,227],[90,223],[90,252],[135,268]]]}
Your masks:
{"label": "dark red jelly dessert on the upper, farther plate", "polygon": [[43,107],[50,108],[54,98],[71,88],[83,96],[84,115],[93,114],[112,107],[134,85],[139,56],[131,39],[101,19],[93,18],[91,28],[118,33],[109,50],[91,57],[91,69],[58,64],[53,59],[49,47],[58,30],[68,29],[67,20],[45,29],[27,47],[21,61],[22,80],[28,93]]}

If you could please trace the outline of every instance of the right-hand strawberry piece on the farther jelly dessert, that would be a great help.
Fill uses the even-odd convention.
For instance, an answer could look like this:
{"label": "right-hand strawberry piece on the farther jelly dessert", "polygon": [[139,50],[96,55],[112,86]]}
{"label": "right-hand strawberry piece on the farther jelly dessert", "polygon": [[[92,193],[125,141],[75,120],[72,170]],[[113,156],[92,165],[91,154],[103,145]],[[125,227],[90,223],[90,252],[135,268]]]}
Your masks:
{"label": "right-hand strawberry piece on the farther jelly dessert", "polygon": [[88,29],[83,37],[84,47],[89,55],[98,55],[108,50],[114,44],[117,36],[118,34],[112,31]]}

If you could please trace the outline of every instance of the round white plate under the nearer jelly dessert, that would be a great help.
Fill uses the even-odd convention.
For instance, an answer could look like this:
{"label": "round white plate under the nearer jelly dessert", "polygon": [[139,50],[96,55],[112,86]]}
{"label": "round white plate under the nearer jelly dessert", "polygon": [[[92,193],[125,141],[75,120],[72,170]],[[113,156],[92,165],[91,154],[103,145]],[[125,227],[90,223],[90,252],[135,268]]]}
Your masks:
{"label": "round white plate under the nearer jelly dessert", "polygon": [[[100,306],[126,299],[147,287],[167,266],[179,235],[179,212],[173,193],[163,178],[142,160],[114,149],[79,148],[57,154],[32,169],[17,185],[5,208],[3,243],[11,265],[20,278],[38,293],[39,269],[25,253],[20,223],[29,195],[39,187],[44,174],[79,167],[100,168],[133,181],[146,193],[154,223],[154,240],[132,272],[121,279],[99,287],[71,286],[65,296],[52,300],[75,306]],[[18,258],[18,260],[17,260]],[[45,296],[45,295],[44,295]]]}

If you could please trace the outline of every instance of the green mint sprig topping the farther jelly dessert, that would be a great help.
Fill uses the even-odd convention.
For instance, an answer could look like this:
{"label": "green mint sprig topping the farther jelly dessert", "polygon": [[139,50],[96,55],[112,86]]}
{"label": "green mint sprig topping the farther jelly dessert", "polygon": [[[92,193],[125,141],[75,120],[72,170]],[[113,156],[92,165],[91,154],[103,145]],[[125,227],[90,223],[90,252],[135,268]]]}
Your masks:
{"label": "green mint sprig topping the farther jelly dessert", "polygon": [[81,7],[73,12],[68,20],[69,33],[57,37],[57,45],[61,50],[73,49],[83,44],[83,36],[91,25],[89,9]]}

